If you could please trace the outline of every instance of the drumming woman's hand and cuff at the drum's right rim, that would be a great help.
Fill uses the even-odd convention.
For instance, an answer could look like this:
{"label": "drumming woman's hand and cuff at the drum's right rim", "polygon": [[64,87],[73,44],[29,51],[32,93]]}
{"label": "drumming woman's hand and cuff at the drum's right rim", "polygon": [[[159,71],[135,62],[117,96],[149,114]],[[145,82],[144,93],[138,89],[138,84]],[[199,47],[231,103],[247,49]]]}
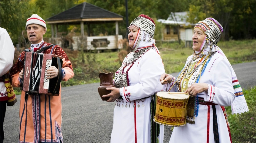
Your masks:
{"label": "drumming woman's hand and cuff at the drum's right rim", "polygon": [[198,93],[208,92],[208,84],[206,83],[193,83],[185,91],[190,96],[196,96]]}

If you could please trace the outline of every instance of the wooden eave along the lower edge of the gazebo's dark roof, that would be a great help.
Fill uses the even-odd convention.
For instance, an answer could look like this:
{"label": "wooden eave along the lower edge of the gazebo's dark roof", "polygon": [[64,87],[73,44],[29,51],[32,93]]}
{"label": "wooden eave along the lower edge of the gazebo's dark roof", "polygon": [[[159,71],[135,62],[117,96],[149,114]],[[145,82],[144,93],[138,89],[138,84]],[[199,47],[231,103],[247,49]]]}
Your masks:
{"label": "wooden eave along the lower edge of the gazebo's dark roof", "polygon": [[58,24],[58,23],[76,23],[76,22],[104,22],[104,21],[123,21],[123,18],[86,18],[86,19],[69,19],[69,20],[54,20],[47,21],[47,24]]}

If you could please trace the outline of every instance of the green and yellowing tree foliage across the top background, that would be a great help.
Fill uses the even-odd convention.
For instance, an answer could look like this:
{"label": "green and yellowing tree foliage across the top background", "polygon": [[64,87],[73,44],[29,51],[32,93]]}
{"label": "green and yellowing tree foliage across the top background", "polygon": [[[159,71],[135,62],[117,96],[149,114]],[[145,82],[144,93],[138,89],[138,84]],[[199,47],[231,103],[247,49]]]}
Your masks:
{"label": "green and yellowing tree foliage across the top background", "polygon": [[[82,2],[122,15],[124,21],[119,23],[119,34],[126,36],[124,0],[1,0],[1,27],[9,32],[15,45],[21,38],[21,31],[25,30],[26,19],[32,14],[38,14],[47,20]],[[226,40],[256,37],[255,0],[129,0],[128,24],[140,14],[146,14],[156,21],[167,19],[171,12],[181,11],[189,11],[187,20],[191,23],[197,23],[206,17],[215,18],[222,24],[222,38]],[[51,26],[46,26],[44,37],[51,37]],[[79,25],[59,25],[58,31],[67,34],[72,29],[70,26],[77,26],[77,32],[80,31]],[[84,28],[87,29],[87,26]],[[91,24],[90,31],[92,35],[115,35],[115,24]]]}

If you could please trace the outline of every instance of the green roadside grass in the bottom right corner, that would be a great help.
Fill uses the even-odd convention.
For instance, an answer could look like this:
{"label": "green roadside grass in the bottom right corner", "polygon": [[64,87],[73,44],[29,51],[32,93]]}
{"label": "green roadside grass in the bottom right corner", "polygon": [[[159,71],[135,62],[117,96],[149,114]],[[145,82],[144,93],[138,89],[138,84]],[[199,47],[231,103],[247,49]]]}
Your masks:
{"label": "green roadside grass in the bottom right corner", "polygon": [[251,90],[243,90],[249,112],[231,114],[231,107],[227,107],[230,131],[233,143],[256,142],[256,86]]}

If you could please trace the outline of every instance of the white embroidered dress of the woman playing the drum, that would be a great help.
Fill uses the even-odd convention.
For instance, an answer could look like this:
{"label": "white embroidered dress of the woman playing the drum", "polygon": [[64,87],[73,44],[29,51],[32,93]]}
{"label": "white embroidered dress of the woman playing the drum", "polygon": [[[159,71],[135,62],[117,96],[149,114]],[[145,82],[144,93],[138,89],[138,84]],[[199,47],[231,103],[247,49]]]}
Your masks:
{"label": "white embroidered dress of the woman playing the drum", "polygon": [[[188,57],[186,64],[192,58]],[[230,106],[235,99],[232,84],[232,67],[224,56],[215,53],[207,64],[200,83],[208,84],[208,93],[197,94],[206,102],[216,105],[218,121],[218,134],[220,143],[230,143],[227,122],[220,106]],[[170,89],[172,83],[164,86],[164,91]],[[171,89],[175,92],[175,87]],[[186,124],[182,127],[174,127],[169,143],[214,143],[213,134],[213,109],[211,105],[199,104],[198,116],[195,124]]]}

